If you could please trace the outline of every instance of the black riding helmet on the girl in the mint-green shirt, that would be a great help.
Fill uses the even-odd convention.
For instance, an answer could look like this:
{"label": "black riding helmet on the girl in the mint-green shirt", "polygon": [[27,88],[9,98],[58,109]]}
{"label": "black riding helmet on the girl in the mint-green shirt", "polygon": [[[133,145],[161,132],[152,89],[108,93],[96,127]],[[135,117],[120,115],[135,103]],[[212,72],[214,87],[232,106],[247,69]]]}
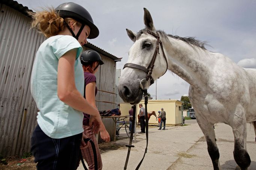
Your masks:
{"label": "black riding helmet on the girl in the mint-green shirt", "polygon": [[68,2],[68,3],[63,3],[60,4],[55,11],[59,13],[60,17],[62,18],[73,18],[77,20],[78,22],[81,22],[82,26],[80,30],[78,31],[77,35],[74,34],[71,28],[68,27],[68,29],[71,31],[73,37],[78,39],[81,31],[83,30],[85,25],[88,25],[90,27],[90,34],[89,34],[89,39],[93,39],[98,37],[99,35],[99,30],[98,28],[93,24],[92,17],[90,13],[84,9],[84,7],[73,3],[73,2]]}

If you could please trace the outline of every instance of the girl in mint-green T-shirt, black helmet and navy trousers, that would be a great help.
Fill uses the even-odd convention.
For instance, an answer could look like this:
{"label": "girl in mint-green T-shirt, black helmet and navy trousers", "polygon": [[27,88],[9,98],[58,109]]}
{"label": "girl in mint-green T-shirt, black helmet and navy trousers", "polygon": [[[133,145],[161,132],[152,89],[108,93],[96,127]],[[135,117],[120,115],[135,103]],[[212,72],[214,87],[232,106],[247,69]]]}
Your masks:
{"label": "girl in mint-green T-shirt, black helmet and navy trousers", "polygon": [[93,132],[104,128],[98,109],[83,97],[79,58],[87,38],[98,37],[99,30],[90,13],[72,2],[28,13],[31,28],[47,37],[38,48],[31,75],[31,93],[39,109],[31,152],[38,170],[75,170],[80,148],[89,145],[83,140],[83,112],[90,114]]}

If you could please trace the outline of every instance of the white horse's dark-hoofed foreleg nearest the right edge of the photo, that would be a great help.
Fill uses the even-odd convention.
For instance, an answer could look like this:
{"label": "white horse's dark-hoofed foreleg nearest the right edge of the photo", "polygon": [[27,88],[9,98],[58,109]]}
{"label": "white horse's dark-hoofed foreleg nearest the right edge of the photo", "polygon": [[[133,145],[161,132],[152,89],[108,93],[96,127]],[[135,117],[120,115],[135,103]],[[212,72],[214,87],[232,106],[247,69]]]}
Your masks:
{"label": "white horse's dark-hoofed foreleg nearest the right edge of the photo", "polygon": [[247,170],[250,166],[251,159],[246,150],[246,120],[235,115],[236,120],[232,124],[235,138],[234,158],[241,170]]}

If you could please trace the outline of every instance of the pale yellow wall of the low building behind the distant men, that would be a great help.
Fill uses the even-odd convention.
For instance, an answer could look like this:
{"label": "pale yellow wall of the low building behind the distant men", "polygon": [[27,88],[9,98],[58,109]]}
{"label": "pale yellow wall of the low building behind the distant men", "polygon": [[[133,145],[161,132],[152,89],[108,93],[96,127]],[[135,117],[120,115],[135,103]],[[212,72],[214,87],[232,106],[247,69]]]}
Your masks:
{"label": "pale yellow wall of the low building behind the distant men", "polygon": [[[145,108],[145,101],[140,102]],[[122,115],[129,115],[129,110],[131,109],[129,103],[120,103],[120,111]],[[179,126],[182,124],[182,102],[178,100],[149,100],[148,101],[148,112],[155,111],[158,116],[158,111],[161,111],[161,108],[166,111],[166,125],[168,126]],[[179,110],[180,109],[180,110]],[[140,108],[139,104],[136,105],[136,118],[139,114]],[[138,120],[137,120],[138,123]],[[149,119],[149,124],[158,125],[158,120],[152,115]]]}

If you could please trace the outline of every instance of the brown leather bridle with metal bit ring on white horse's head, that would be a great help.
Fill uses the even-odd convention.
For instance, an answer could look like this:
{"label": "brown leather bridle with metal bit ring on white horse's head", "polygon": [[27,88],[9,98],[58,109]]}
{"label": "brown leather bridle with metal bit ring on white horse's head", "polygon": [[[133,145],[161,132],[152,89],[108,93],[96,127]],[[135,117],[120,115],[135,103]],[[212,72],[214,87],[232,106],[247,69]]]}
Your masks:
{"label": "brown leather bridle with metal bit ring on white horse's head", "polygon": [[[152,71],[153,71],[153,68],[154,68],[154,63],[155,63],[155,59],[157,58],[157,54],[160,54],[160,53],[159,53],[159,44],[160,44],[160,46],[161,46],[161,50],[162,50],[162,52],[163,52],[164,59],[165,59],[165,61],[166,61],[166,71],[167,71],[167,69],[168,69],[167,58],[166,58],[166,56],[165,56],[165,54],[164,54],[163,44],[162,44],[162,42],[161,42],[161,40],[160,40],[160,36],[159,36],[158,32],[157,32],[157,34],[155,34],[155,33],[153,33],[152,31],[149,31],[149,30],[148,30],[148,34],[151,34],[151,35],[153,35],[155,38],[157,38],[157,44],[156,44],[156,47],[155,47],[155,52],[154,52],[153,58],[151,59],[151,62],[150,62],[150,64],[149,64],[148,68],[145,68],[145,67],[143,67],[143,66],[141,66],[141,65],[133,64],[133,63],[126,63],[126,64],[123,66],[123,69],[124,69],[125,67],[137,68],[137,69],[140,69],[140,70],[146,72],[146,74],[148,74],[146,78],[143,78],[143,79],[140,81],[140,87],[141,87],[142,89],[145,89],[145,87],[146,87],[146,89],[148,89],[149,86],[154,83],[154,78],[151,76],[151,74],[152,74]],[[164,74],[166,73],[166,71],[164,72]],[[164,75],[164,74],[163,74],[163,75]],[[150,81],[149,81],[149,80],[150,80]],[[145,83],[148,83],[149,86],[146,86]]]}

